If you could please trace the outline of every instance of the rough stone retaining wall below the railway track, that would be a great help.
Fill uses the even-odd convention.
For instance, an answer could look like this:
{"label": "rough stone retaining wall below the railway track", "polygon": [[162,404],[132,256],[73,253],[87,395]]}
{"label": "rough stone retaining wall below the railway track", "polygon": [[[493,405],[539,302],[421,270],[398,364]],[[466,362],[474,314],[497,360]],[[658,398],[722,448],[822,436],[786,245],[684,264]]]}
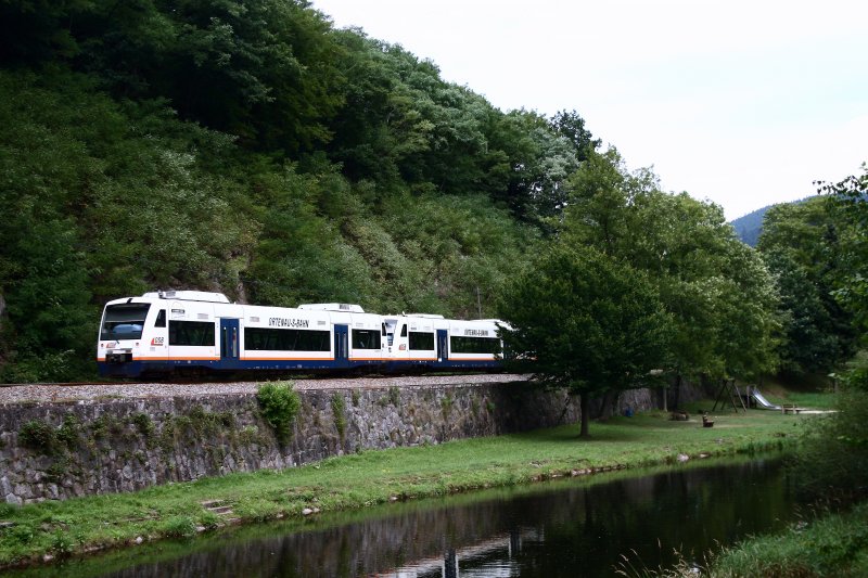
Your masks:
{"label": "rough stone retaining wall below the railway track", "polygon": [[[577,399],[525,382],[298,395],[302,409],[285,447],[255,395],[0,406],[0,497],[21,504],[132,491],[578,421]],[[654,402],[649,391],[633,390],[616,403],[626,406],[643,410]]]}

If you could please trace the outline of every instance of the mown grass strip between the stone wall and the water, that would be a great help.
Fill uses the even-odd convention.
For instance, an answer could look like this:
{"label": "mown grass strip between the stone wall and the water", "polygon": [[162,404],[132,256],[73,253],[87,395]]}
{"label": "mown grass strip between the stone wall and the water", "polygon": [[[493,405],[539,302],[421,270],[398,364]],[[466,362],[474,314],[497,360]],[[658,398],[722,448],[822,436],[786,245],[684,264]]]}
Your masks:
{"label": "mown grass strip between the stone wall and the water", "polygon": [[303,516],[375,503],[509,486],[599,470],[672,463],[685,455],[725,455],[795,442],[806,418],[753,410],[673,422],[651,412],[595,423],[580,440],[576,425],[439,446],[365,452],[283,472],[235,474],[112,494],[0,506],[0,566],[149,541],[193,536],[225,517],[201,504],[220,500],[242,523]]}

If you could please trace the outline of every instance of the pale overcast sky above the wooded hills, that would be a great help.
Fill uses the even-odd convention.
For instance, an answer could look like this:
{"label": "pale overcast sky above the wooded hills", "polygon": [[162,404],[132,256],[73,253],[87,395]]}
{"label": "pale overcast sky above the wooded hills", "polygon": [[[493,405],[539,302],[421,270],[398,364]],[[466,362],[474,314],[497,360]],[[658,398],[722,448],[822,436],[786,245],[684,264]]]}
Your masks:
{"label": "pale overcast sky above the wooded hills", "polygon": [[735,219],[868,162],[865,0],[314,0],[502,111],[576,111]]}

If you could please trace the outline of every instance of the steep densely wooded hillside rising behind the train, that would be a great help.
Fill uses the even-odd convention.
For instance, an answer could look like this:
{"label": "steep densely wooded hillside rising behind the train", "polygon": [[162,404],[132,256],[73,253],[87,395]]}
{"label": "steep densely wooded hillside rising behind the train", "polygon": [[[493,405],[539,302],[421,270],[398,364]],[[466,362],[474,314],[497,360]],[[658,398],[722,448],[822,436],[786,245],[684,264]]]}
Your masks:
{"label": "steep densely wooded hillside rising behind the train", "polygon": [[90,373],[101,305],[154,288],[494,317],[599,144],[306,2],[233,5],[0,7],[0,381]]}

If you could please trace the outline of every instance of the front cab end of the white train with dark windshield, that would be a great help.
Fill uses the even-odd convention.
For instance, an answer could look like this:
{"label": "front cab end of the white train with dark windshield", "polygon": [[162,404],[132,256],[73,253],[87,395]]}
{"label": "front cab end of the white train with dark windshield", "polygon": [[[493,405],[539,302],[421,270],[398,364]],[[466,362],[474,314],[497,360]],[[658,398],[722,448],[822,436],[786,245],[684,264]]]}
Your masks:
{"label": "front cab end of the white train with dark windshield", "polygon": [[[149,319],[152,305],[151,299],[143,297],[125,297],[105,305],[97,345],[97,365],[100,375],[137,377],[142,373],[142,359],[152,345],[150,342],[145,343],[145,339],[151,338],[145,327],[159,324],[158,320]],[[154,311],[151,317],[157,313]],[[164,339],[164,337],[158,338]]]}

